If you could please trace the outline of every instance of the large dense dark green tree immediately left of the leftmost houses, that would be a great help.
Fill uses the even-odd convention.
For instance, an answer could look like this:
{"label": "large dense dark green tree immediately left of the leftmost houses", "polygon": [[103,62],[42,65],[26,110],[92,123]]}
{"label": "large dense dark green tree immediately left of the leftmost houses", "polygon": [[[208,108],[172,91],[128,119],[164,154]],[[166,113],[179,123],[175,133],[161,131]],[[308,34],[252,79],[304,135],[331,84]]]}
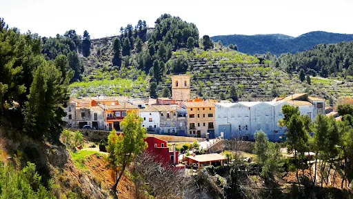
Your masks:
{"label": "large dense dark green tree immediately left of the leftmost houses", "polygon": [[68,102],[68,84],[70,74],[65,79],[59,68],[41,59],[34,70],[30,95],[23,111],[25,116],[24,131],[34,139],[43,139],[43,135],[52,141],[59,141],[63,131],[65,112],[63,107]]}

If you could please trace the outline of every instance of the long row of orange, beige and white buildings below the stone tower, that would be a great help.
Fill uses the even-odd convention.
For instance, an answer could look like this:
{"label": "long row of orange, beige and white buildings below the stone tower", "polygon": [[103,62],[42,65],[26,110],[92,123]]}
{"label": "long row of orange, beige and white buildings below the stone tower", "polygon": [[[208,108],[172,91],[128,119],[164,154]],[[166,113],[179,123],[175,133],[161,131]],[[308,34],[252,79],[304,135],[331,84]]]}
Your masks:
{"label": "long row of orange, beige and white buildings below the stone tower", "polygon": [[177,102],[174,99],[128,99],[127,97],[84,97],[72,99],[65,108],[64,120],[68,127],[122,130],[120,122],[128,111],[142,117],[142,126],[150,133],[183,135],[199,138],[222,136],[231,139],[238,136],[254,139],[254,133],[262,130],[270,140],[279,140],[285,128],[278,126],[283,118],[282,106],[298,106],[301,114],[315,119],[325,114],[325,99],[297,93],[288,97],[276,97],[270,102],[228,102],[193,99]]}

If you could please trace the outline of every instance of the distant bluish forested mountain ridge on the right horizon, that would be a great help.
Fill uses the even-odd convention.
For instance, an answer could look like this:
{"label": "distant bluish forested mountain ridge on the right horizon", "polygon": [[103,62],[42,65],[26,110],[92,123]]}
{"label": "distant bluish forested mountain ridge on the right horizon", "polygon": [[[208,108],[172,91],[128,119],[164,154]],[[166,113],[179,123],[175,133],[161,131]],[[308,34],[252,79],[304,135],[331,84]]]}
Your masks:
{"label": "distant bluish forested mountain ridge on the right horizon", "polygon": [[338,34],[323,31],[307,32],[299,37],[288,35],[220,35],[211,37],[214,42],[221,41],[223,45],[235,44],[239,51],[254,54],[273,55],[296,53],[310,50],[317,44],[333,44],[341,41],[352,41],[353,35]]}

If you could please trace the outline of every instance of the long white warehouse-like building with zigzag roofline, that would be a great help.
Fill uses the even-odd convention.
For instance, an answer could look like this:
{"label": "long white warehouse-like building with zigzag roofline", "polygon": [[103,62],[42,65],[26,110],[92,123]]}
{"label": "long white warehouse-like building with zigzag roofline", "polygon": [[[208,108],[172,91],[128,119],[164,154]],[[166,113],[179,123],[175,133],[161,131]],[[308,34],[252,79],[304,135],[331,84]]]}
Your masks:
{"label": "long white warehouse-like building with zigzag roofline", "polygon": [[285,127],[278,126],[283,119],[282,106],[299,106],[301,114],[315,119],[324,114],[325,99],[309,97],[306,93],[276,98],[272,102],[220,102],[216,103],[215,136],[223,132],[225,139],[239,136],[254,140],[254,133],[262,130],[272,141],[279,140],[285,133]]}

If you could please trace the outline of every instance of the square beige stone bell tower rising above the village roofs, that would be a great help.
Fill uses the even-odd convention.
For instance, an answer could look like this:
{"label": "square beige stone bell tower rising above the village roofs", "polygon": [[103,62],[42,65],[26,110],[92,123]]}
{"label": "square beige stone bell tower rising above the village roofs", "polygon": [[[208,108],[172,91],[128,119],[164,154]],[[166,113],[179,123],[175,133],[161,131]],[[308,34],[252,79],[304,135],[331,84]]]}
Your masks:
{"label": "square beige stone bell tower rising above the village roofs", "polygon": [[172,99],[177,102],[190,99],[190,75],[172,76]]}

